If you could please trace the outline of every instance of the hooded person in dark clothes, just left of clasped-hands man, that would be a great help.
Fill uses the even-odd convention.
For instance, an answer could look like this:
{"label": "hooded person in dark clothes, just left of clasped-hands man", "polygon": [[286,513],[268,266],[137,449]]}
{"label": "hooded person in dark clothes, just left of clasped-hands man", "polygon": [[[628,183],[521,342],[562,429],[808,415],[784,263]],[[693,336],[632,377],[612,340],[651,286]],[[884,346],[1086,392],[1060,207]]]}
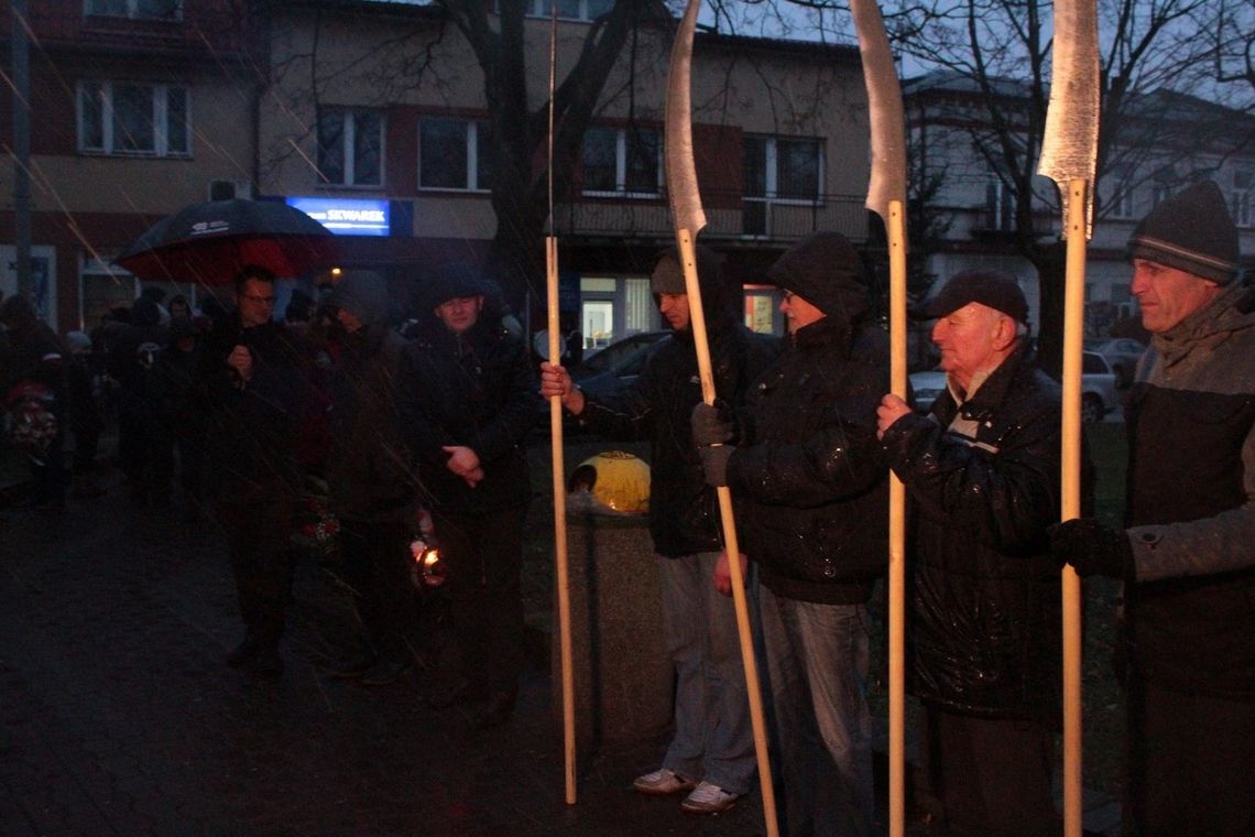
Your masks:
{"label": "hooded person in dark clothes, just left of clasped-hands man", "polygon": [[415,479],[402,442],[397,380],[405,341],[388,324],[383,276],[345,271],[326,300],[343,329],[331,373],[325,476],[340,521],[345,572],[369,648],[334,673],[387,685],[413,665],[415,621],[409,541],[417,530]]}

